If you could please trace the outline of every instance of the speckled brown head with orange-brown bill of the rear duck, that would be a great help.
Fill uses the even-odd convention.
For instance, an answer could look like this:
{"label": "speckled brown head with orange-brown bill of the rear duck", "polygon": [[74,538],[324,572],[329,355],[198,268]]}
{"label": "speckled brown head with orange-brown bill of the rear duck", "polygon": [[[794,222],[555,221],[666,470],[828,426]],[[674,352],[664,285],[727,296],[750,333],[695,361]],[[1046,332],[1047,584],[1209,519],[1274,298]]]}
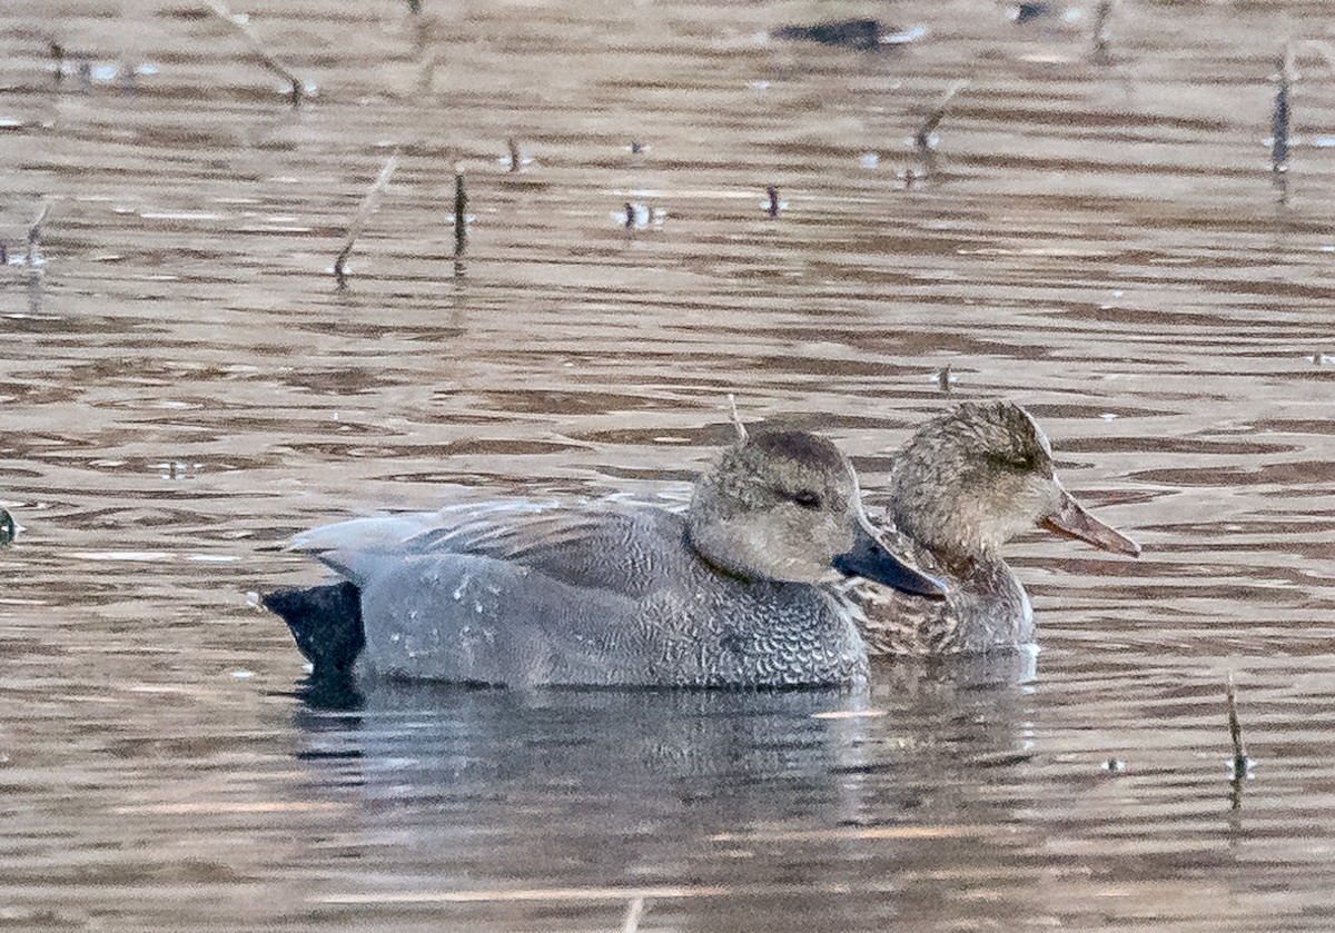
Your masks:
{"label": "speckled brown head with orange-brown bill of the rear duck", "polygon": [[997,557],[1035,526],[1140,554],[1140,545],[1067,493],[1048,436],[1012,402],[965,402],[924,424],[894,458],[890,514],[901,531],[948,559]]}

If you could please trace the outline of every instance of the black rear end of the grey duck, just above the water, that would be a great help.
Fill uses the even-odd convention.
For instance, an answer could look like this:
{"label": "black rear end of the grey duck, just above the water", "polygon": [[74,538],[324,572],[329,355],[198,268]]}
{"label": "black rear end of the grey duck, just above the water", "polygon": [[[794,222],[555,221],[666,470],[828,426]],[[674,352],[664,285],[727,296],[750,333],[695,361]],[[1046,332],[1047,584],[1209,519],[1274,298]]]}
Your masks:
{"label": "black rear end of the grey duck, just above the water", "polygon": [[266,594],[263,603],[287,622],[296,649],[315,665],[315,677],[351,673],[366,645],[362,591],[355,583],[276,590]]}

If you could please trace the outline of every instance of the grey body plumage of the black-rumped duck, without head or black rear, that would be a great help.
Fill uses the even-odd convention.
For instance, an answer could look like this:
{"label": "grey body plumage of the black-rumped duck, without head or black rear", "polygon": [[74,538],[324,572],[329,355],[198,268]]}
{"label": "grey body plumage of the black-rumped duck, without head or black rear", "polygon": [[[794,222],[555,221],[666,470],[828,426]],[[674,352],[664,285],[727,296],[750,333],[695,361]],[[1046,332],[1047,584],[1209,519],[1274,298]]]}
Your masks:
{"label": "grey body plumage of the black-rumped duck, without head or black rear", "polygon": [[506,685],[754,687],[865,678],[849,613],[821,587],[722,573],[682,517],[526,501],[308,531],[362,591],[376,674]]}

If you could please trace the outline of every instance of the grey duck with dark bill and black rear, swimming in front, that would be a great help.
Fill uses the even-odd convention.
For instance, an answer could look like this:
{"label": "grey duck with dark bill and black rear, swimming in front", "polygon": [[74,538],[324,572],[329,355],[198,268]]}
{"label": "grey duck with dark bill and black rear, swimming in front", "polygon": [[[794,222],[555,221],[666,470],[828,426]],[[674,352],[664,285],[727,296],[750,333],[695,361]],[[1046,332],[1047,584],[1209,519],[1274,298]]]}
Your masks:
{"label": "grey duck with dark bill and black rear, swimming in front", "polygon": [[359,661],[510,686],[846,685],[865,678],[866,649],[821,581],[943,595],[876,541],[848,459],[800,431],[726,450],[686,515],[461,505],[328,525],[292,547],[346,579],[264,598],[318,675]]}

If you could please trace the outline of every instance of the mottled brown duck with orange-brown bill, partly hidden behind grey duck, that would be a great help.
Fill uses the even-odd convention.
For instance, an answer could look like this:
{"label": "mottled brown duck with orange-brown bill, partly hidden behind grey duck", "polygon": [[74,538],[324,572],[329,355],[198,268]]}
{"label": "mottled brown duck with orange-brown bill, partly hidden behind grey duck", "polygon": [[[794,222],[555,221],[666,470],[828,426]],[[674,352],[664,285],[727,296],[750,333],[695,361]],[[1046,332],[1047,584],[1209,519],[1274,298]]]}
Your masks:
{"label": "mottled brown duck with orange-brown bill, partly hidden behind grey duck", "polygon": [[852,586],[868,651],[876,655],[983,653],[1033,641],[1029,597],[1001,559],[1016,535],[1045,527],[1135,557],[1140,546],[1087,513],[1052,469],[1033,416],[1011,402],[965,402],[924,424],[894,456],[889,550],[945,581],[945,602],[872,583]]}

